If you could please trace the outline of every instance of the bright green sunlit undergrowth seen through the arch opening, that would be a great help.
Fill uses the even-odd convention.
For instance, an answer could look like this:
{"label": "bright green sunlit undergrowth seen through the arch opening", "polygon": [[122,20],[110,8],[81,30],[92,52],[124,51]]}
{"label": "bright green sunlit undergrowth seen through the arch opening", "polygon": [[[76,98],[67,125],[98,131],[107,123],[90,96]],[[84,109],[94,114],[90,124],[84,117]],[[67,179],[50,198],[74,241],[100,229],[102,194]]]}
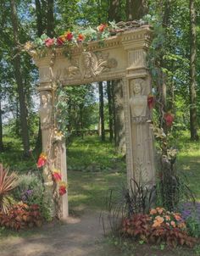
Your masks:
{"label": "bright green sunlit undergrowth seen through the arch opening", "polygon": [[67,150],[69,170],[117,170],[125,171],[123,156],[117,154],[110,142],[101,142],[98,136],[81,137],[69,145]]}

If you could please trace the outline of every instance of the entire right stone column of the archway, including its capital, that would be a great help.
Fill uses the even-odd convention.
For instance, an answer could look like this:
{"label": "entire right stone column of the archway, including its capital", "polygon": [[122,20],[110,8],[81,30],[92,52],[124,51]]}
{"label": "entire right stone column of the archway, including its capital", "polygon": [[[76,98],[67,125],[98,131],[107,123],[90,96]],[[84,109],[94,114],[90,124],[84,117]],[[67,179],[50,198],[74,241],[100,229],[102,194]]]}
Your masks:
{"label": "entire right stone column of the archway, including its capital", "polygon": [[147,95],[151,92],[146,62],[149,37],[150,31],[144,31],[122,40],[127,57],[124,78],[127,179],[128,184],[133,178],[144,186],[155,184],[153,131],[147,122],[151,118],[147,107]]}

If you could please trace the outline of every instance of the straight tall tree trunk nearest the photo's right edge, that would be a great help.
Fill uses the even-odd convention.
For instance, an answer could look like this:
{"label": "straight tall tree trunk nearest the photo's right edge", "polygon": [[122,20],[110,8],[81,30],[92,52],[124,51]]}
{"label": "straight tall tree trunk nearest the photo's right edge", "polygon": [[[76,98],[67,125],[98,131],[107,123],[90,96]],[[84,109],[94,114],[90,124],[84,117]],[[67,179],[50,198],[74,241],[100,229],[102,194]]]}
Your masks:
{"label": "straight tall tree trunk nearest the photo's right edge", "polygon": [[197,31],[195,1],[190,0],[190,131],[192,141],[198,140],[197,135],[197,96],[196,96],[196,58]]}

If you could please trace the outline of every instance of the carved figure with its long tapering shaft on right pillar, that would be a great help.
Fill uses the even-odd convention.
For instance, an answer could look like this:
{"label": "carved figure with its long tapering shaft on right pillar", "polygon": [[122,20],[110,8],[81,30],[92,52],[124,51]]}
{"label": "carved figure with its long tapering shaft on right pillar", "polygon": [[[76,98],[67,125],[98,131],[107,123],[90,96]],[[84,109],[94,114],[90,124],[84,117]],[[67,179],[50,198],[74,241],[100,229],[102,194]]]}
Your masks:
{"label": "carved figure with its long tapering shaft on right pillar", "polygon": [[134,178],[137,182],[149,183],[153,172],[152,135],[147,118],[147,95],[145,95],[146,81],[142,78],[130,82],[131,108],[131,136]]}

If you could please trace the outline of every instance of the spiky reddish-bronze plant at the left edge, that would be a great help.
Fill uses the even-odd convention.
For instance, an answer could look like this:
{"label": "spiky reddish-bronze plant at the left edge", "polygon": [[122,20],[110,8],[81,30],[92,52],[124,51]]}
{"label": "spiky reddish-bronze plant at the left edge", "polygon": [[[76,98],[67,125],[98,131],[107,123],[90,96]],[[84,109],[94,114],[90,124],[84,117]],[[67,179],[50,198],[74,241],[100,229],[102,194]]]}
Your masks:
{"label": "spiky reddish-bronze plant at the left edge", "polygon": [[0,211],[5,214],[14,203],[14,199],[9,195],[18,186],[19,177],[15,172],[9,173],[8,168],[3,168],[0,164]]}

